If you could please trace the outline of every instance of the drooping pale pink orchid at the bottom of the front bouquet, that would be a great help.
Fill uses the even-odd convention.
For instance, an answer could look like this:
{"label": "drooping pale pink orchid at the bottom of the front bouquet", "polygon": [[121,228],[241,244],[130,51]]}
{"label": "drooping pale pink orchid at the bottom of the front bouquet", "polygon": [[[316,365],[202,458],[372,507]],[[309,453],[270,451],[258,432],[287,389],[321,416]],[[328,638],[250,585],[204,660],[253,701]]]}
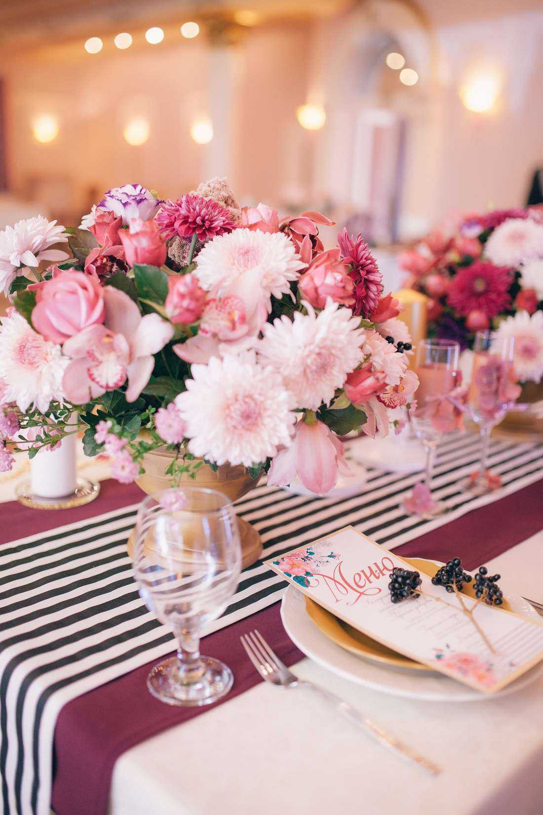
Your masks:
{"label": "drooping pale pink orchid at the bottom of the front bouquet", "polygon": [[297,475],[309,491],[324,496],[335,486],[338,474],[351,475],[343,452],[339,438],[322,421],[308,424],[300,419],[291,446],[274,456],[268,483],[285,487]]}

